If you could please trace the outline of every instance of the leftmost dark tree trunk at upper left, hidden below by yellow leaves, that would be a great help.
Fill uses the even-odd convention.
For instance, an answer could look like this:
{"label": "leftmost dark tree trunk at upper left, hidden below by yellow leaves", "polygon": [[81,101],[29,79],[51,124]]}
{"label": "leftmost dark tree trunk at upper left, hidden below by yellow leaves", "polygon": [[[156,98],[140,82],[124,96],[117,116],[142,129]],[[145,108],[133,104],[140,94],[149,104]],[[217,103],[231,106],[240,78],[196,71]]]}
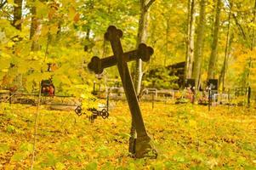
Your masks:
{"label": "leftmost dark tree trunk at upper left, hidden below by yellow leaves", "polygon": [[13,26],[21,31],[21,17],[22,17],[22,0],[14,0],[14,3],[16,4],[14,6],[14,22]]}

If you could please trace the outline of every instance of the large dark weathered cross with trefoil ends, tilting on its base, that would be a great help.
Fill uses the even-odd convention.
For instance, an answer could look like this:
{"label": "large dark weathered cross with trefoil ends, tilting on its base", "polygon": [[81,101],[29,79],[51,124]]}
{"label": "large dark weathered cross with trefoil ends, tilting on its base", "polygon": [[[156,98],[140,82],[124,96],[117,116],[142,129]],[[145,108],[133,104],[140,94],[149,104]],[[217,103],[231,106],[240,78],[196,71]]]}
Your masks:
{"label": "large dark weathered cross with trefoil ends, tilting on its base", "polygon": [[153,150],[153,148],[150,144],[151,138],[145,130],[145,125],[139,108],[139,101],[135,92],[134,83],[128,70],[127,62],[136,59],[148,61],[154,53],[154,50],[151,47],[147,47],[144,43],[141,43],[139,44],[138,49],[123,53],[120,41],[121,37],[121,30],[117,29],[115,26],[109,26],[105,33],[105,39],[111,42],[111,48],[114,55],[105,59],[93,57],[91,62],[88,64],[88,68],[96,74],[100,74],[105,68],[117,65],[137,133],[137,139],[135,141],[135,156],[140,158],[144,157],[150,150]]}

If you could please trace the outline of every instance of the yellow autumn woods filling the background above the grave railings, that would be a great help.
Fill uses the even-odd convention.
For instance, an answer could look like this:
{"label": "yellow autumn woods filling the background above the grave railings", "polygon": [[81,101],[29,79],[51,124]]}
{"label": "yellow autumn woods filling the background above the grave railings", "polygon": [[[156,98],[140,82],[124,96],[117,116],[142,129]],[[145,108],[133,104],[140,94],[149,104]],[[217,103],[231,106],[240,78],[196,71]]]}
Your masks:
{"label": "yellow autumn woods filling the background above the grave railings", "polygon": [[[124,50],[139,42],[155,49],[149,63],[130,65],[137,91],[146,71],[184,61],[184,78],[195,78],[196,86],[215,78],[223,91],[255,88],[255,2],[1,0],[0,84],[31,92],[52,76],[59,94],[88,94],[94,76],[86,66],[94,55],[111,55],[103,35],[115,25],[124,31]],[[55,64],[52,72],[48,63]],[[116,77],[116,69],[106,70],[106,77]]]}

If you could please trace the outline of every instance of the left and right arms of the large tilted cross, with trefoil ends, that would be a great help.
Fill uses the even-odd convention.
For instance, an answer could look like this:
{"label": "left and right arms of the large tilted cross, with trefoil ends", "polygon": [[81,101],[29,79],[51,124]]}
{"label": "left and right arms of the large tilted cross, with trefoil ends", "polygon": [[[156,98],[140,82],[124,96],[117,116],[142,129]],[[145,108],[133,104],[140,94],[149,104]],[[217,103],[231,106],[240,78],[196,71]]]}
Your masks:
{"label": "left and right arms of the large tilted cross, with trefoil ends", "polygon": [[[124,53],[123,58],[126,62],[136,59],[142,59],[146,62],[150,60],[152,54],[154,54],[153,48],[146,46],[145,43],[140,43],[138,49]],[[88,64],[88,69],[94,71],[95,74],[100,74],[105,68],[113,65],[117,65],[117,57],[115,55],[104,59],[94,56]]]}

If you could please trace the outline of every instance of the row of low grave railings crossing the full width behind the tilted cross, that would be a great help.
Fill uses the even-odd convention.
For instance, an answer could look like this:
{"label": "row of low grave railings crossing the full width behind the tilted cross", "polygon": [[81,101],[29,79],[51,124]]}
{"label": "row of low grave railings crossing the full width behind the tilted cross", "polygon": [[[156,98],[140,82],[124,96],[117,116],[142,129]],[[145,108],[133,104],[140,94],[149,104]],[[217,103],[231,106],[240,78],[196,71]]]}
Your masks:
{"label": "row of low grave railings crossing the full width behind the tilted cross", "polygon": [[[102,88],[102,91],[94,91],[100,99],[106,99],[107,97],[111,100],[126,100],[123,88],[108,87],[107,90]],[[139,94],[140,101],[156,101],[156,102],[174,102],[179,98],[186,98],[183,94],[183,90],[174,89],[156,89],[156,88],[145,88],[142,93]],[[251,88],[250,96],[248,88],[230,88],[226,89],[225,92],[213,92],[212,102],[213,105],[255,105],[256,104],[256,90]],[[208,92],[198,91],[196,94],[196,100],[205,99],[208,103]],[[28,105],[37,105],[38,93],[26,94],[21,92],[0,92],[0,102],[9,102],[10,104],[21,103]],[[54,99],[57,99],[58,104],[51,104],[53,100],[52,96],[42,95],[42,105],[80,105],[75,102],[74,96],[55,95]],[[68,104],[66,104],[68,103]]]}

